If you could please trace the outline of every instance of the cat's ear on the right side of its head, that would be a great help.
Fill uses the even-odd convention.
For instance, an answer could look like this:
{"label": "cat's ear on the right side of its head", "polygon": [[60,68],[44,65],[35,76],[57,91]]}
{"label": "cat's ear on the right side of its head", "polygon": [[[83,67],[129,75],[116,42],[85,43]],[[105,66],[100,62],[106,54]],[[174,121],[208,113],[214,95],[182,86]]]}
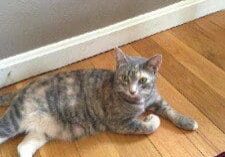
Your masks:
{"label": "cat's ear on the right side of its head", "polygon": [[162,63],[162,55],[157,54],[157,55],[149,58],[145,62],[144,67],[148,70],[153,70],[154,73],[157,73],[160,68],[161,63]]}

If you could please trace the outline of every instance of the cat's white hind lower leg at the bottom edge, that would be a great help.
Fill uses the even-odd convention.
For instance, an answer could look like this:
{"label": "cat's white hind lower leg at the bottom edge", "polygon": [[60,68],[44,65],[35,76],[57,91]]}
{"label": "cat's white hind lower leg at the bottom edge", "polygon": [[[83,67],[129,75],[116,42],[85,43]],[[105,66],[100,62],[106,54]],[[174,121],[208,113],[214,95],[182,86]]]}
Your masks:
{"label": "cat's white hind lower leg at the bottom edge", "polygon": [[29,132],[18,145],[20,157],[32,157],[34,153],[48,141],[44,133]]}

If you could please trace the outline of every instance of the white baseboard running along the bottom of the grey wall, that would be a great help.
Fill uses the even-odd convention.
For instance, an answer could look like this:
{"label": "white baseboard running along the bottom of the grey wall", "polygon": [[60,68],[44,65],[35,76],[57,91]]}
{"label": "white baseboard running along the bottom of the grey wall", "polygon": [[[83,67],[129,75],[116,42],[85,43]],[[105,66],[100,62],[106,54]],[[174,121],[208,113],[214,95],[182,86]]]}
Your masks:
{"label": "white baseboard running along the bottom of the grey wall", "polygon": [[225,9],[225,0],[184,0],[0,61],[0,87]]}

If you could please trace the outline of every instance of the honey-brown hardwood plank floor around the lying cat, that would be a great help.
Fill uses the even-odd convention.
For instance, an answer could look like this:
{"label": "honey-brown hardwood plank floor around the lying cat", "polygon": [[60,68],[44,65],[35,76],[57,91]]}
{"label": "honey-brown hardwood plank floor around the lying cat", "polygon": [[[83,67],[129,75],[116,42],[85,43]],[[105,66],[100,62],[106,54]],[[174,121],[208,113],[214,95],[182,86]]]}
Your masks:
{"label": "honey-brown hardwood plank floor around the lying cat", "polygon": [[[152,135],[101,133],[74,142],[51,141],[36,157],[212,157],[225,151],[225,11],[125,45],[127,54],[150,57],[162,53],[158,88],[174,108],[195,118],[196,132],[162,120]],[[54,72],[83,68],[113,69],[112,51]],[[17,90],[29,80],[4,88]],[[5,108],[1,108],[1,113]],[[0,146],[1,157],[16,156],[24,136]]]}

